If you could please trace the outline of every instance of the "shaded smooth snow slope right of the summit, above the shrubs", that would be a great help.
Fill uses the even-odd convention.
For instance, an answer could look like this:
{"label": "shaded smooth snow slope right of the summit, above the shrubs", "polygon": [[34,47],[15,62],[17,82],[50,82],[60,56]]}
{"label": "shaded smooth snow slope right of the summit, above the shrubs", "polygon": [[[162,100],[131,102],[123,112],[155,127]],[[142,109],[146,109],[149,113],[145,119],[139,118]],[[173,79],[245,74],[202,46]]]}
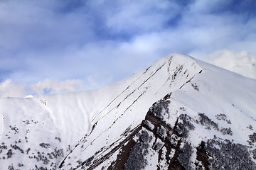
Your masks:
{"label": "shaded smooth snow slope right of the summit, above the shrubs", "polygon": [[[246,127],[255,125],[254,119],[256,118],[254,104],[256,103],[256,81],[225,69],[213,67],[210,64],[197,63],[207,69],[204,69],[202,74],[196,75],[189,84],[183,86],[183,90],[186,92],[175,91],[171,98],[186,103],[186,106],[193,111],[207,113],[208,117],[215,120],[220,127],[233,130],[233,136],[230,139],[247,145],[250,131],[246,130]],[[193,90],[191,84],[202,84],[203,86],[198,86],[199,91],[196,91]],[[227,116],[231,122],[230,125],[225,121],[216,120],[215,115],[220,113]],[[191,113],[189,114],[191,115]],[[210,133],[213,132],[212,130],[209,132],[196,131],[199,134],[205,134],[207,138],[211,137]],[[192,141],[198,139],[197,137],[193,137]]]}

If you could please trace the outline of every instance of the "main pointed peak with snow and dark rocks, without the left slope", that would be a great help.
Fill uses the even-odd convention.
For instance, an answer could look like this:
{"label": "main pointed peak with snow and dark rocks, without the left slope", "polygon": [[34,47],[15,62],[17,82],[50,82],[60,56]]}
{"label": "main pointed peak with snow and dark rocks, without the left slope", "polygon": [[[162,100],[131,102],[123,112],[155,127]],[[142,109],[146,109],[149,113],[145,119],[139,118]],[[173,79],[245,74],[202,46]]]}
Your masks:
{"label": "main pointed peak with snow and dark rocks, without the left slope", "polygon": [[178,54],[136,77],[61,169],[256,168],[255,80]]}

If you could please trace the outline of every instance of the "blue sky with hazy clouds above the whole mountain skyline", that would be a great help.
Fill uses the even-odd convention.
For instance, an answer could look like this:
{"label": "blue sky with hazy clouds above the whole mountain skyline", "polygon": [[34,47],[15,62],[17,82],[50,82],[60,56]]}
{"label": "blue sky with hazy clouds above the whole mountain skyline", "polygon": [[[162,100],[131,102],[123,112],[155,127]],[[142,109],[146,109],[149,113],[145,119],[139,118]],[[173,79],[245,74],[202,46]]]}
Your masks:
{"label": "blue sky with hazy clouds above the whole mountain skyline", "polygon": [[255,8],[255,0],[2,0],[0,97],[96,89],[171,52],[255,55]]}

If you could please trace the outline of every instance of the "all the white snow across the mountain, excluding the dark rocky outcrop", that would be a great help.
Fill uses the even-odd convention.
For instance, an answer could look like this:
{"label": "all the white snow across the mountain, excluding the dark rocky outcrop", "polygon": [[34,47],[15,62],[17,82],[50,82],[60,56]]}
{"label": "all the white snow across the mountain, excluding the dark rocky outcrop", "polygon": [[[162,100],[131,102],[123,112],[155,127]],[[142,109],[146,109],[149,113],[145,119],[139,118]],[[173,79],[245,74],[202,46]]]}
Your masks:
{"label": "all the white snow across the mountain, excluding the dark rocky outcrop", "polygon": [[[164,121],[174,127],[181,114],[189,115],[195,128],[188,140],[195,147],[218,137],[253,151],[256,136],[255,142],[249,136],[256,132],[255,87],[255,79],[173,53],[95,91],[1,98],[0,169],[83,169],[81,162],[91,166],[90,159],[101,165],[95,169],[107,167],[153,103],[166,95],[170,115]],[[201,115],[218,129],[196,123]],[[149,162],[145,169],[159,164]]]}

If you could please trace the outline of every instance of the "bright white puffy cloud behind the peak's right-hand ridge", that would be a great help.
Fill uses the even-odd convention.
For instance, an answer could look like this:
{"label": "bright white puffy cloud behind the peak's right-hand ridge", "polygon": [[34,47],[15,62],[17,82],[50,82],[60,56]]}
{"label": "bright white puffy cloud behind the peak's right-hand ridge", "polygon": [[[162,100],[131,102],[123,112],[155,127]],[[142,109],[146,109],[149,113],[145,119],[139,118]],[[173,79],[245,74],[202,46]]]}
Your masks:
{"label": "bright white puffy cloud behind the peak's right-hand ridge", "polygon": [[256,55],[247,51],[219,50],[208,55],[207,62],[245,77],[256,79]]}

